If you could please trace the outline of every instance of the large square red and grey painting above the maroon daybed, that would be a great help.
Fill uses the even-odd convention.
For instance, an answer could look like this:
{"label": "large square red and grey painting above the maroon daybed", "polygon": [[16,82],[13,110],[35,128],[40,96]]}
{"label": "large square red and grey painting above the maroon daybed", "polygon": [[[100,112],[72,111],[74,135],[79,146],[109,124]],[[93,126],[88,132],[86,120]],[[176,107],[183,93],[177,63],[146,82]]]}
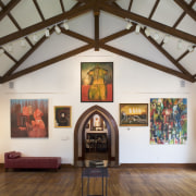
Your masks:
{"label": "large square red and grey painting above the maroon daybed", "polygon": [[11,99],[11,137],[48,137],[48,99]]}

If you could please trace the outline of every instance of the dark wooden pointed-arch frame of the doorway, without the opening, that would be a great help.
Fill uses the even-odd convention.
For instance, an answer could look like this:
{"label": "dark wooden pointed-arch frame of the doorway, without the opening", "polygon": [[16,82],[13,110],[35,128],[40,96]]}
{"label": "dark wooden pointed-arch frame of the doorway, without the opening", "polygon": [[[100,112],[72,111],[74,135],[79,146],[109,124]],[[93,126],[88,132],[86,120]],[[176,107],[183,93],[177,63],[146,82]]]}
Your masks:
{"label": "dark wooden pointed-arch frame of the doorway, without the opening", "polygon": [[[103,108],[94,106],[87,109],[77,120],[74,128],[74,166],[84,161],[84,130],[86,123],[94,114],[99,114],[105,120],[108,128],[108,161],[109,166],[119,166],[119,128],[113,117]],[[112,162],[112,164],[110,164]]]}

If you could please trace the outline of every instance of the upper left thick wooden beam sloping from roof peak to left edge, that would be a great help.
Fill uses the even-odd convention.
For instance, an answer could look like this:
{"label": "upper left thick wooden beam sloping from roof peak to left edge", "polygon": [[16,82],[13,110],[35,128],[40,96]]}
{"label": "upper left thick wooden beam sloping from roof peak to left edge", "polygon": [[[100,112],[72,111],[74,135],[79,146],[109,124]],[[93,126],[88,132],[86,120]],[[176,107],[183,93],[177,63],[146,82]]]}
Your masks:
{"label": "upper left thick wooden beam sloping from roof peak to left edge", "polygon": [[71,10],[71,11],[68,11],[65,13],[62,13],[62,14],[59,14],[57,16],[45,20],[45,22],[37,23],[35,25],[23,28],[23,29],[16,32],[16,33],[12,33],[10,35],[1,37],[0,38],[0,46],[4,45],[7,42],[13,41],[15,39],[19,39],[21,37],[25,37],[25,36],[29,35],[29,34],[33,34],[34,32],[38,32],[38,30],[40,30],[42,28],[46,28],[46,27],[49,27],[49,26],[54,25],[57,23],[60,23],[60,22],[62,22],[64,20],[72,19],[72,17],[75,17],[75,16],[81,15],[83,13],[86,13],[90,9],[91,9],[91,3],[88,3],[88,4],[85,4],[85,5],[78,7],[78,8],[74,9],[74,10]]}

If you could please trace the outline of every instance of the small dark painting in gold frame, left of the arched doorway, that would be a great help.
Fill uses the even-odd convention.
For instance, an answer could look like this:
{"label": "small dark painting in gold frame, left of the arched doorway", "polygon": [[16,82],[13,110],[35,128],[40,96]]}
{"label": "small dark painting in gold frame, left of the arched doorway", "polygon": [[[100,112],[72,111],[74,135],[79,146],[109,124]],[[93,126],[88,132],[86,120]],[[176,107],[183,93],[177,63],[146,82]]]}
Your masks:
{"label": "small dark painting in gold frame, left of the arched doorway", "polygon": [[70,106],[54,106],[54,127],[71,127]]}

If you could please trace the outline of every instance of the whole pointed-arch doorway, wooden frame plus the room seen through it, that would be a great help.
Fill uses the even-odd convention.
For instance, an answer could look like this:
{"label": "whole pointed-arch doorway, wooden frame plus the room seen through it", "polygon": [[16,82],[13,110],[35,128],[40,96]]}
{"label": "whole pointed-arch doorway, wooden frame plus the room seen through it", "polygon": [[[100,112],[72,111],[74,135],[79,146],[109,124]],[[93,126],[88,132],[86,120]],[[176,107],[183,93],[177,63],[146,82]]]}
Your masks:
{"label": "whole pointed-arch doorway, wooden frame plus the room seen through it", "polygon": [[88,160],[119,166],[119,128],[113,117],[99,106],[87,109],[74,128],[74,166],[85,166]]}

